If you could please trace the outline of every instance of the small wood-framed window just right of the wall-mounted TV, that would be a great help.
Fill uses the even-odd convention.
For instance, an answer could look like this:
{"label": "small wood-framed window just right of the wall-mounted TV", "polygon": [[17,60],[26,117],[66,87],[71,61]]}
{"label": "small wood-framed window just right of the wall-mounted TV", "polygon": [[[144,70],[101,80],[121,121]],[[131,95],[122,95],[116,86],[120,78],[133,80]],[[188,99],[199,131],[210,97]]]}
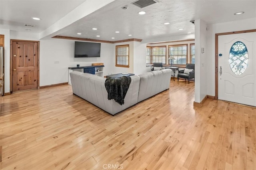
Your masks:
{"label": "small wood-framed window just right of the wall-mounted TV", "polygon": [[116,67],[129,67],[129,45],[116,45]]}

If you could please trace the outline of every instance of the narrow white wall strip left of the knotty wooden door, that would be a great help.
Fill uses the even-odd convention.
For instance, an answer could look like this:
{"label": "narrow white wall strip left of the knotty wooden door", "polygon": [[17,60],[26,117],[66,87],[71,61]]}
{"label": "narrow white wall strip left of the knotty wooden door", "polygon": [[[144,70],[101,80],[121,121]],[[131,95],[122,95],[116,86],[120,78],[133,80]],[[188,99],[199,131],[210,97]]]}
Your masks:
{"label": "narrow white wall strip left of the knotty wooden door", "polygon": [[4,35],[4,93],[10,92],[10,30],[0,29]]}

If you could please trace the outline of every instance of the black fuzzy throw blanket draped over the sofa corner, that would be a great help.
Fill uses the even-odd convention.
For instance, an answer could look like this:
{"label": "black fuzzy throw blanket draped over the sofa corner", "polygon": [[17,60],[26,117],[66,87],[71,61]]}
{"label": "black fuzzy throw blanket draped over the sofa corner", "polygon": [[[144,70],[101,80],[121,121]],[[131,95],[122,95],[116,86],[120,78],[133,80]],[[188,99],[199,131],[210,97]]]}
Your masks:
{"label": "black fuzzy throw blanket draped over the sofa corner", "polygon": [[130,76],[119,78],[108,77],[105,87],[108,92],[108,100],[114,99],[119,105],[124,104],[124,97],[129,89],[132,79]]}

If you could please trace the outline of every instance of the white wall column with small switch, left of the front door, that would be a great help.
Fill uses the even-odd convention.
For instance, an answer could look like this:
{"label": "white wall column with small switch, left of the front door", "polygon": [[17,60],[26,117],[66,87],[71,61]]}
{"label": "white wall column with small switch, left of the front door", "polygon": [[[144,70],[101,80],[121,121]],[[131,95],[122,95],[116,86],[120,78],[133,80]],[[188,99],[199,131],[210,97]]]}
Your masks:
{"label": "white wall column with small switch, left of the front door", "polygon": [[[200,103],[207,95],[206,54],[207,32],[206,22],[195,20],[195,102]],[[204,53],[201,52],[204,48]]]}

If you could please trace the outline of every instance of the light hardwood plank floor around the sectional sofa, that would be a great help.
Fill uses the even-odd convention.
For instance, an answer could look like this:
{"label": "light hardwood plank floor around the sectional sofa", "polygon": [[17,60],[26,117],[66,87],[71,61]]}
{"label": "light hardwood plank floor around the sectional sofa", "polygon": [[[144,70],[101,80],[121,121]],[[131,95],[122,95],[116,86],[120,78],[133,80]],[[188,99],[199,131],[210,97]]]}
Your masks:
{"label": "light hardwood plank floor around the sectional sofa", "polygon": [[171,81],[114,117],[69,85],[0,100],[0,169],[256,169],[256,109],[193,107],[194,83]]}

